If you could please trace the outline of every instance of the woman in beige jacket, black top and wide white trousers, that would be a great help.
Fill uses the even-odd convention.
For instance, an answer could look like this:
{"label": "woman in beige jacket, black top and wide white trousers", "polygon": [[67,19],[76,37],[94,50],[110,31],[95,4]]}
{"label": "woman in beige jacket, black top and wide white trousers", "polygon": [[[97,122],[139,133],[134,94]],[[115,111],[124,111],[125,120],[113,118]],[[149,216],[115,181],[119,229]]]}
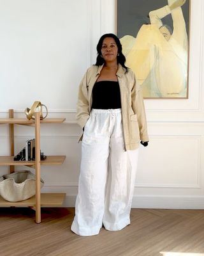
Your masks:
{"label": "woman in beige jacket, black top and wide white trousers", "polygon": [[101,36],[96,65],[80,84],[77,122],[84,130],[71,230],[80,236],[121,230],[130,223],[138,147],[149,141],[143,97],[125,66],[119,38]]}

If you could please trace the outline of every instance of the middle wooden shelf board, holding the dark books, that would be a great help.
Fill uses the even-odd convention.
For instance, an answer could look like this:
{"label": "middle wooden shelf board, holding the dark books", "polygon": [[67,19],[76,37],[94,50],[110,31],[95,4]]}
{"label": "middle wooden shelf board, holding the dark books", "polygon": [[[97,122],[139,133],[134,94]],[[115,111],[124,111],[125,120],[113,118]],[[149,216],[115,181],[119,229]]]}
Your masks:
{"label": "middle wooden shelf board, holding the dark books", "polygon": [[[47,156],[47,159],[40,161],[41,165],[60,165],[66,156]],[[0,156],[0,166],[18,165],[34,166],[35,161],[13,161],[13,156]]]}

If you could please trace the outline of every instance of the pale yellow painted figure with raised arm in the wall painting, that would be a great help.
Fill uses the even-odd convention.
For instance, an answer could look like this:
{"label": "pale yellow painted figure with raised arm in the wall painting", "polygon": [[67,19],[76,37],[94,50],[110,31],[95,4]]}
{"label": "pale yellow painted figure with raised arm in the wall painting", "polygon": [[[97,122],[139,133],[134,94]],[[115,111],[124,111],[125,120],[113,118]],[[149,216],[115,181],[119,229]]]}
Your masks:
{"label": "pale yellow painted figure with raised arm in the wall painting", "polygon": [[[136,74],[143,97],[185,98],[187,96],[186,22],[181,6],[186,0],[168,0],[166,6],[149,12],[136,38],[120,38],[126,65]],[[162,19],[171,15],[173,28]]]}

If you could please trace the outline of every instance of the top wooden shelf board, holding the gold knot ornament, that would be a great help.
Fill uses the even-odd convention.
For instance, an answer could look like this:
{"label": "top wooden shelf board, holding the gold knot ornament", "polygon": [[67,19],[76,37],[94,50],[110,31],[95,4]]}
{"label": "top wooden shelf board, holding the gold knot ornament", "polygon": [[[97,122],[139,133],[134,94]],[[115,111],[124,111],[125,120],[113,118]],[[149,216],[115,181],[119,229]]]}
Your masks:
{"label": "top wooden shelf board, holding the gold knot ornament", "polygon": [[[61,124],[66,118],[45,118],[40,121],[41,124]],[[27,118],[0,118],[0,124],[34,124],[34,120]]]}

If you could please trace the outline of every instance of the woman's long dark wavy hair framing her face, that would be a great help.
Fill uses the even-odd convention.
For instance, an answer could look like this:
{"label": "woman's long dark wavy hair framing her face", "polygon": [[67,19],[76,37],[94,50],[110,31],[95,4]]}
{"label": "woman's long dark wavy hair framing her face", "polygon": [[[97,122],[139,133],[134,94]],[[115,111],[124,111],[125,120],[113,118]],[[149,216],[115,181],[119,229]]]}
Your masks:
{"label": "woman's long dark wavy hair framing her face", "polygon": [[105,62],[104,59],[101,57],[101,48],[102,48],[103,40],[106,37],[111,37],[115,40],[115,43],[117,44],[117,48],[118,48],[118,53],[119,53],[119,56],[117,56],[117,63],[120,63],[120,65],[122,65],[122,67],[126,68],[126,72],[128,72],[128,67],[126,67],[126,65],[125,65],[126,57],[122,54],[122,45],[120,44],[120,40],[116,35],[114,35],[112,33],[105,34],[105,35],[101,36],[101,38],[99,39],[98,45],[96,47],[97,58],[96,58],[95,65],[101,66]]}

